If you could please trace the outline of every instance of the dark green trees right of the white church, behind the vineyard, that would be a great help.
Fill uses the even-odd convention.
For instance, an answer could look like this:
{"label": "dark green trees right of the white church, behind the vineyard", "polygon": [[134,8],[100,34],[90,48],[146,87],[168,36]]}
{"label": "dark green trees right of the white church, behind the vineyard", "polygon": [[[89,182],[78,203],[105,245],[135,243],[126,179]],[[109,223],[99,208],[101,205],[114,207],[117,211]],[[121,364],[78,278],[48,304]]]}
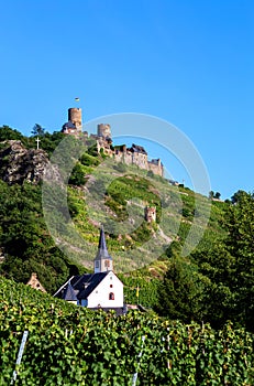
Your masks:
{"label": "dark green trees right of the white church, behind the vineyard", "polygon": [[[225,233],[191,254],[187,267],[189,275],[186,274],[186,264],[176,260],[177,248],[174,245],[169,248],[167,254],[173,262],[161,289],[164,314],[186,320],[190,308],[195,308],[191,293],[197,293],[202,312],[192,312],[192,315],[189,312],[189,318],[209,321],[217,328],[232,320],[254,330],[254,195],[239,191],[232,202],[223,206]],[[191,275],[194,264],[197,277],[201,278],[200,292],[200,281],[194,281]]]}

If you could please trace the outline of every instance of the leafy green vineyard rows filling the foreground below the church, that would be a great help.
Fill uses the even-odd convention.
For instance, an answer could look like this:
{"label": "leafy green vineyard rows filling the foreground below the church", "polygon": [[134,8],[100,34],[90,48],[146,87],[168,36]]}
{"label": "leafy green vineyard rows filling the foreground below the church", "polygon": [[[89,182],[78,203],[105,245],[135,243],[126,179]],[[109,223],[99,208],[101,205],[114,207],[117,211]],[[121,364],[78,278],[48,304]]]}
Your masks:
{"label": "leafy green vineyard rows filling the foreground below the church", "polygon": [[254,336],[231,323],[92,312],[3,278],[0,299],[0,385],[254,385]]}

